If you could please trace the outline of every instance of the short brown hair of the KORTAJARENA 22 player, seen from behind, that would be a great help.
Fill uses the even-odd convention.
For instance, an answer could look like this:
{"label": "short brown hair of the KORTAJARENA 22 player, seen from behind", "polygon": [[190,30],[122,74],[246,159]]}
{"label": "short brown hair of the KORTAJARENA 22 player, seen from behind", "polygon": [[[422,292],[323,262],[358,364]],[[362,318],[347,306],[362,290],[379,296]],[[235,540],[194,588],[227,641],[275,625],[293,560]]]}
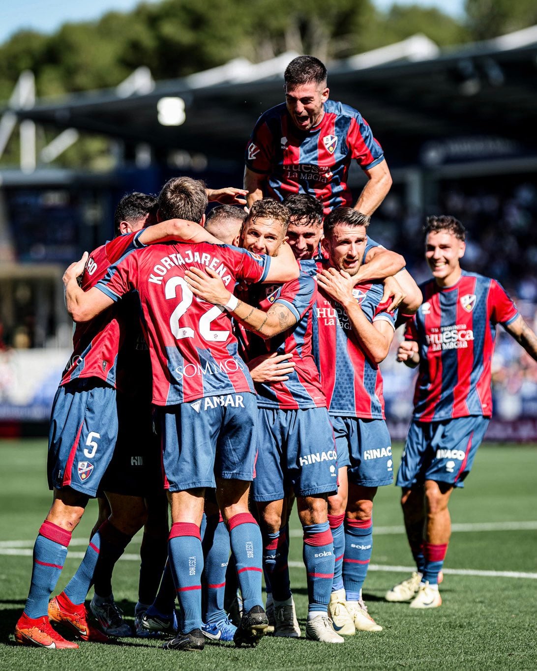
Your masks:
{"label": "short brown hair of the KORTAJARENA 22 player, seen from behind", "polygon": [[160,218],[187,219],[199,223],[207,207],[205,183],[191,177],[168,179],[158,194]]}

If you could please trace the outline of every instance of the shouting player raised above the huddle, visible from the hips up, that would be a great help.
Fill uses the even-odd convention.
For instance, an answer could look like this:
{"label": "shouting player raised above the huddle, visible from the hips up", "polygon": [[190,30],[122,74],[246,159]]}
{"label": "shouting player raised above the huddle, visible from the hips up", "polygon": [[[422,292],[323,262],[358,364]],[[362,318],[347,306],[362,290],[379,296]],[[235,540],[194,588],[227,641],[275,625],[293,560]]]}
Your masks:
{"label": "shouting player raised above the huddle, visible from the hips up", "polygon": [[360,112],[330,100],[324,64],[298,56],[285,69],[285,103],[264,112],[246,147],[248,206],[309,193],[328,214],[352,205],[348,170],[354,158],[368,181],[354,207],[371,215],[391,187],[383,150]]}

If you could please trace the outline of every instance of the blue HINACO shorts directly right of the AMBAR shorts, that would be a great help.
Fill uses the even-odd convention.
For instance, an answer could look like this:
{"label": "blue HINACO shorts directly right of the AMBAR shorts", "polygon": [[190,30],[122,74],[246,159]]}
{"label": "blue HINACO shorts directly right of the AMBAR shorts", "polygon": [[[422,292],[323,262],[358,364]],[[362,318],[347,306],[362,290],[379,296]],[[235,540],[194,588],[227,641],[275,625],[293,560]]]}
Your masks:
{"label": "blue HINACO shorts directly right of the AMBAR shorts", "polygon": [[337,491],[334,433],[326,408],[259,408],[257,422],[254,501],[279,501],[291,486],[297,497]]}

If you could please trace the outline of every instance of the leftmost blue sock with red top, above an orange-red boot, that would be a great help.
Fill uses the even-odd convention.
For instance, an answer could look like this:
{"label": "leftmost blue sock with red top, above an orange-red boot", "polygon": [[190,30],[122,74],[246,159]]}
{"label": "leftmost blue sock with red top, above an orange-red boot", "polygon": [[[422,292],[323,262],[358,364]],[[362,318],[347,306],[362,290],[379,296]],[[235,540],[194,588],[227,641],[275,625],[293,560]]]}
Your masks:
{"label": "leftmost blue sock with red top, above an orange-red boot", "polygon": [[28,617],[47,615],[48,600],[60,577],[71,539],[70,531],[44,521],[34,544],[32,582],[24,612]]}

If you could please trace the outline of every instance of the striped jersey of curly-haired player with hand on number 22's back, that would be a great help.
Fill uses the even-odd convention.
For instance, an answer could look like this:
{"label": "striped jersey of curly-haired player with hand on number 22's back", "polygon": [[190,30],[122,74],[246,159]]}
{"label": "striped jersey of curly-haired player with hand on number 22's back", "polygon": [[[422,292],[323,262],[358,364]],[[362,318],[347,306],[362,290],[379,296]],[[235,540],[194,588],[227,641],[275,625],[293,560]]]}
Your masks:
{"label": "striped jersey of curly-haired player with hand on number 22's back", "polygon": [[258,407],[280,410],[325,408],[326,398],[313,358],[312,319],[313,306],[317,299],[315,280],[301,272],[299,277],[291,282],[248,287],[246,291],[240,289],[237,295],[241,300],[250,305],[257,305],[265,312],[274,303],[281,303],[289,308],[297,320],[292,328],[275,335],[270,340],[263,340],[242,325],[238,327],[241,353],[244,352],[247,361],[273,352],[293,354],[295,370],[289,374],[289,380],[256,383]]}

